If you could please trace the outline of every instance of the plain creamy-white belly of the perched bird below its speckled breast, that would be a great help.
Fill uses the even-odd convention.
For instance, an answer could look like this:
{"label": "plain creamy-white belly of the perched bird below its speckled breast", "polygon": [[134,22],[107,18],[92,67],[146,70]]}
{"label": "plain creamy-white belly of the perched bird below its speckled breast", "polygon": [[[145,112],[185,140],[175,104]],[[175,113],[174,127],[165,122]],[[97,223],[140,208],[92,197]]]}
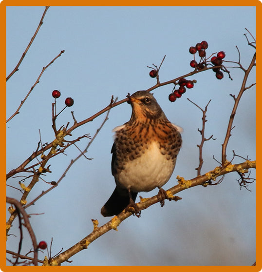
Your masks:
{"label": "plain creamy-white belly of the perched bird below its speckled breast", "polygon": [[162,155],[157,142],[152,142],[145,153],[125,164],[116,182],[133,192],[149,192],[162,187],[173,173],[174,163]]}

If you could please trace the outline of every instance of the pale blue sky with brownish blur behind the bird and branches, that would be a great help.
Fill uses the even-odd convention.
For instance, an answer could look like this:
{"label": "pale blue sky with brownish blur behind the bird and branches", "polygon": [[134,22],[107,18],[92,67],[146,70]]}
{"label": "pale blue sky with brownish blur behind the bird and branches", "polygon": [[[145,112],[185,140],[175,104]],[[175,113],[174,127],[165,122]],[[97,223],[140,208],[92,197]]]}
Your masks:
{"label": "pale blue sky with brownish blur behind the bird and branches", "polygon": [[[6,8],[6,71],[9,74],[33,36],[44,7]],[[237,15],[237,16],[236,16]],[[254,49],[243,36],[247,28],[256,33],[256,8],[253,7],[50,7],[37,38],[28,51],[19,71],[7,82],[7,117],[19,106],[36,81],[42,67],[65,50],[43,74],[40,82],[20,110],[7,123],[7,171],[16,168],[36,150],[39,130],[42,142],[54,139],[52,130],[52,91],[60,90],[57,109],[64,107],[64,99],[73,97],[75,104],[57,119],[57,126],[70,121],[71,110],[77,121],[92,116],[109,104],[111,96],[119,100],[127,93],[146,90],[155,84],[149,77],[152,63],[159,65],[160,81],[177,78],[192,71],[188,49],[206,40],[207,55],[225,51],[225,60],[238,61],[247,67]],[[251,39],[251,38],[250,38]],[[230,65],[231,66],[231,65]],[[229,94],[238,94],[243,71],[229,68],[222,80],[212,71],[190,77],[196,79],[194,88],[174,103],[168,101],[173,86],[153,91],[168,119],[184,129],[183,147],[178,156],[174,174],[165,189],[174,186],[176,176],[190,179],[196,176],[198,148],[201,138],[197,129],[202,125],[202,113],[187,98],[207,111],[206,136],[215,141],[204,147],[203,174],[214,169],[221,158],[221,144],[233,106]],[[255,82],[255,73],[248,84]],[[255,159],[255,87],[248,89],[239,105],[228,145],[238,155]],[[94,140],[87,156],[79,159],[59,186],[30,207],[31,222],[37,240],[50,243],[55,254],[68,249],[92,232],[91,218],[99,225],[103,218],[100,209],[114,189],[111,175],[112,129],[129,120],[131,107],[124,103],[112,109],[109,120]],[[94,135],[105,115],[97,117],[74,131],[72,137]],[[78,143],[84,148],[87,140]],[[67,155],[57,155],[52,161],[52,173],[46,181],[58,180],[70,160],[79,151],[67,149]],[[235,163],[242,162],[236,158]],[[252,170],[255,176],[255,171]],[[21,178],[11,178],[8,184],[18,186]],[[227,175],[223,183],[207,188],[196,187],[180,193],[183,199],[166,202],[164,208],[154,205],[142,211],[141,218],[131,216],[118,228],[92,243],[88,250],[72,257],[64,265],[251,265],[255,261],[255,183],[252,192],[240,190],[237,174]],[[27,181],[28,182],[28,181]],[[27,183],[25,183],[27,184]],[[30,193],[34,199],[49,185],[39,181]],[[141,193],[144,197],[157,190]],[[7,195],[19,199],[20,192],[7,188]],[[17,222],[12,233],[18,235]],[[16,251],[18,237],[10,236],[9,250]],[[29,238],[23,242],[23,253],[31,248]],[[39,258],[44,254],[40,253]]]}

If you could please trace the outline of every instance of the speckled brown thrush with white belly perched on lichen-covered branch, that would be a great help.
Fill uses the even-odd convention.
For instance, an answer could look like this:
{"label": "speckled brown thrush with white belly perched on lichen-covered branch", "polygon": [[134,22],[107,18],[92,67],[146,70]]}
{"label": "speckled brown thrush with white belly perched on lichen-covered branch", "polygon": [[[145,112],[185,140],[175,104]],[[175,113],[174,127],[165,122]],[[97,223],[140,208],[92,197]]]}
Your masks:
{"label": "speckled brown thrush with white belly perched on lichen-covered branch", "polygon": [[111,166],[116,187],[101,209],[103,216],[117,215],[130,206],[139,215],[134,203],[138,192],[159,188],[161,200],[166,193],[161,187],[172,175],[182,145],[182,129],[168,121],[152,94],[138,91],[127,97],[132,115],[113,130]]}

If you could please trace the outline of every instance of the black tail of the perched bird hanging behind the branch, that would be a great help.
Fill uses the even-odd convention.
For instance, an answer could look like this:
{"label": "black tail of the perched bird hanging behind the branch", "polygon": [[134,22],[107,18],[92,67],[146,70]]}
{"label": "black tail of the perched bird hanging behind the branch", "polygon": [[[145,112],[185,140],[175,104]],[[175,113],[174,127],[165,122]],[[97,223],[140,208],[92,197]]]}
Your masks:
{"label": "black tail of the perched bird hanging behind the branch", "polygon": [[[131,192],[131,198],[135,201],[137,193]],[[120,214],[130,203],[128,190],[115,187],[112,195],[101,209],[103,216],[113,216]]]}

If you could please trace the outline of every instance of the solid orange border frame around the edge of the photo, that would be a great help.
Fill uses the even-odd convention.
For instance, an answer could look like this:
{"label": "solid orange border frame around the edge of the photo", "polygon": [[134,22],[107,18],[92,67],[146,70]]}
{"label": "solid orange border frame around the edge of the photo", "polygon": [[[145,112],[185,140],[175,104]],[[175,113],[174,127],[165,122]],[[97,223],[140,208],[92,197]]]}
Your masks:
{"label": "solid orange border frame around the edge of the photo", "polygon": [[[171,0],[165,0],[164,2],[161,2],[162,5],[166,5],[166,6],[173,6],[174,4],[176,4],[175,1],[171,1]],[[90,5],[90,6],[129,6],[130,2],[124,2],[121,0],[112,0],[110,2],[107,2],[105,0],[100,0],[100,1],[92,1],[90,3],[88,3],[87,1],[84,0],[77,0],[76,2],[74,1],[74,6],[76,5]],[[133,6],[158,6],[159,5],[159,1],[157,0],[133,0],[131,2],[131,4]],[[186,4],[183,4],[183,6],[194,6],[196,4],[196,1],[193,0],[187,0]],[[210,0],[202,0],[201,1],[202,6],[208,5],[208,6],[218,6],[218,4],[220,6],[256,6],[256,19],[257,19],[257,33],[256,33],[256,39],[257,39],[257,44],[259,46],[260,49],[260,39],[262,37],[262,33],[261,33],[261,29],[262,29],[262,2],[260,2],[259,0],[220,0],[219,2],[214,2],[211,4]],[[46,5],[51,5],[51,6],[61,6],[61,1],[57,1],[57,0],[49,0],[49,1],[33,1],[33,0],[24,0],[22,3],[19,0],[3,0],[2,2],[0,2],[0,33],[1,33],[1,37],[4,37],[5,41],[5,37],[6,37],[6,6],[46,6]],[[63,1],[63,5],[64,6],[73,6],[72,2],[69,0],[64,0]],[[233,15],[232,15],[233,16]],[[0,52],[1,52],[1,59],[5,59],[5,42],[1,42],[0,43]],[[260,54],[260,50],[258,50],[257,54],[257,58],[258,58],[258,63],[260,64],[262,62],[262,58],[261,58],[261,54]],[[4,96],[5,98],[5,75],[6,75],[6,71],[5,71],[5,61],[4,63],[1,63],[0,65],[0,89],[2,90],[2,96]],[[257,74],[258,75],[262,75],[262,71],[261,71],[261,67],[259,65]],[[261,96],[262,93],[261,91],[259,91],[260,89],[260,82],[257,82],[257,100],[258,101],[262,101]],[[3,95],[4,94],[4,95]],[[5,107],[1,106],[0,107],[0,123],[1,124],[5,124]],[[260,118],[261,117],[261,113],[262,113],[262,107],[257,107],[257,139],[260,140],[260,138],[258,137],[260,135],[260,128],[258,126]],[[4,184],[3,180],[5,180],[5,159],[4,159],[4,155],[5,154],[5,133],[3,133],[3,131],[5,132],[5,125],[3,126],[2,129],[2,133],[0,134],[1,137],[1,145],[0,145],[0,154],[1,155],[1,163],[0,163],[0,176],[1,176],[1,181],[2,184]],[[258,151],[258,157],[259,157],[259,162],[260,162],[260,151],[261,151],[261,142],[257,141],[257,151]],[[261,175],[260,171],[258,172],[258,178],[257,180],[260,181],[261,179],[259,178]],[[252,271],[252,272],[257,272],[257,271],[261,271],[262,270],[262,258],[261,258],[261,252],[262,252],[262,248],[261,248],[261,244],[262,244],[262,234],[260,232],[260,230],[262,230],[262,224],[261,221],[262,219],[258,216],[260,215],[260,211],[261,211],[261,199],[260,197],[258,197],[259,193],[261,192],[261,183],[257,182],[257,222],[256,222],[256,226],[257,226],[257,264],[256,266],[167,266],[167,267],[163,267],[162,269],[176,269],[179,270],[179,272],[182,271],[194,271],[194,272],[210,272],[210,271],[218,271],[221,272],[221,270],[223,270],[223,272],[225,271],[235,271],[235,272],[242,272],[242,271]],[[2,207],[5,207],[5,188],[3,188],[2,190],[0,190],[0,219],[1,219],[1,235],[0,235],[0,269],[2,269],[4,272],[11,272],[13,270],[21,270],[23,271],[24,269],[28,269],[28,267],[12,267],[12,266],[6,266],[5,262],[5,234],[3,232],[3,230],[5,229],[5,209],[2,209]],[[90,267],[90,269],[92,269],[93,267]],[[155,269],[160,269],[161,267],[155,267]],[[81,271],[86,271],[87,267],[85,266],[59,266],[59,267],[30,267],[29,270],[33,270],[33,269],[43,269],[43,270],[52,270],[52,269],[58,269],[58,270],[64,270],[64,271],[72,271],[73,269],[78,269]],[[123,269],[125,269],[125,271],[131,271],[133,268],[132,267],[121,267],[121,266],[117,266],[117,267],[94,267],[94,269],[101,269],[101,270],[107,270],[108,272],[110,271],[122,271]],[[137,267],[135,269],[143,269],[143,271],[151,271],[152,269],[154,269],[154,267],[150,267],[150,266],[143,266],[143,267]]]}

